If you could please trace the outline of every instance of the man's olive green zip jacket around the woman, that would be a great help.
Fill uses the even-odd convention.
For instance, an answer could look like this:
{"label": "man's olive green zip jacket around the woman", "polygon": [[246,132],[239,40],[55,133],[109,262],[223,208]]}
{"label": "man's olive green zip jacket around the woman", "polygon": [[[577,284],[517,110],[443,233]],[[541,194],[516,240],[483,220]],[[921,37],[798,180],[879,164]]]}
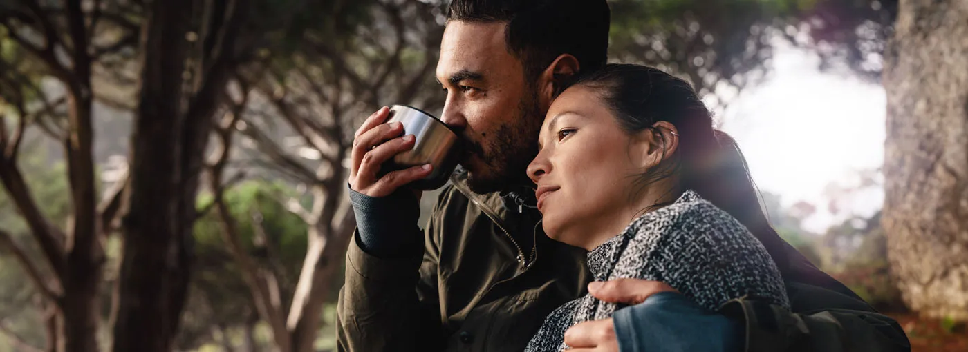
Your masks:
{"label": "man's olive green zip jacket around the woman", "polygon": [[[552,241],[536,226],[540,214],[519,209],[457,181],[439,196],[423,255],[378,258],[354,236],[337,308],[338,350],[523,350],[545,316],[584,295],[592,277],[584,249]],[[798,278],[784,278],[793,313],[743,299],[722,310],[744,320],[747,350],[910,350],[894,320],[796,254]]]}

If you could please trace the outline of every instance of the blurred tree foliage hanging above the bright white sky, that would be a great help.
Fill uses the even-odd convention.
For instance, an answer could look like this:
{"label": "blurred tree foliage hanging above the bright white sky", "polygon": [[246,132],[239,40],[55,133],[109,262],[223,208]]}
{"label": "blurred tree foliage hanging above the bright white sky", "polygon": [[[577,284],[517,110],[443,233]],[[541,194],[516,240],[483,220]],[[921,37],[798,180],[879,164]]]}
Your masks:
{"label": "blurred tree foliage hanging above the bright white sky", "polygon": [[896,0],[611,0],[610,59],[692,82],[713,108],[770,73],[786,41],[816,52],[821,69],[877,81]]}

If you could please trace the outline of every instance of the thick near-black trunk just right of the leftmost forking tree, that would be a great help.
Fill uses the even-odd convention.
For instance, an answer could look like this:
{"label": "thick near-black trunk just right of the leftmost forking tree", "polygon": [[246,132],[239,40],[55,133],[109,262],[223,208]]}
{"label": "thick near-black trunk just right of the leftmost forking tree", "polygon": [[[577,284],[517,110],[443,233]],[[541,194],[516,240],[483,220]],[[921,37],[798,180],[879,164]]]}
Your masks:
{"label": "thick near-black trunk just right of the leftmost forking tree", "polygon": [[[182,73],[192,2],[156,1],[143,27],[141,89],[131,140],[115,351],[171,349],[190,265],[182,219]],[[192,199],[194,202],[194,198]]]}

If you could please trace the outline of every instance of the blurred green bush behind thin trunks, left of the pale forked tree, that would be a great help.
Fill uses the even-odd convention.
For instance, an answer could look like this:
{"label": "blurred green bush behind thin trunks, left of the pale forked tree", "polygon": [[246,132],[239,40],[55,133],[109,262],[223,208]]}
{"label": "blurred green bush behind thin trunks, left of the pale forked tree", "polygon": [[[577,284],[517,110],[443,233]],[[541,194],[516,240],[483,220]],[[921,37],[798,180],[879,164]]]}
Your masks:
{"label": "blurred green bush behind thin trunks, left of the pale forked tree", "polygon": [[[306,223],[275,200],[280,195],[292,193],[282,183],[251,181],[237,185],[225,194],[247,254],[261,269],[272,271],[279,279],[282,307],[288,307],[287,300],[299,276],[307,244]],[[212,194],[199,196],[198,208],[204,209],[212,199]],[[254,220],[259,215],[260,224]],[[185,349],[195,349],[211,340],[212,327],[239,327],[257,319],[249,287],[227,250],[219,221],[213,211],[195,224],[195,272],[178,337],[179,346]],[[264,229],[264,246],[256,245],[259,243],[256,226]]]}

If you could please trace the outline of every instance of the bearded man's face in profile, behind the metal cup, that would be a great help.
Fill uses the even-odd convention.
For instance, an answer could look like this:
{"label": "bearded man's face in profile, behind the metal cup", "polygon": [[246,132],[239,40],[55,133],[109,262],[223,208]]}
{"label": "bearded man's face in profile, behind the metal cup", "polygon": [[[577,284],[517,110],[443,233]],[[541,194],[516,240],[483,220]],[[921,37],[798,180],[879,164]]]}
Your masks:
{"label": "bearded man's face in profile, behind the metal cup", "polygon": [[467,153],[460,163],[478,193],[528,181],[545,113],[521,60],[507,50],[505,25],[451,21],[440,43],[441,120],[461,133]]}

